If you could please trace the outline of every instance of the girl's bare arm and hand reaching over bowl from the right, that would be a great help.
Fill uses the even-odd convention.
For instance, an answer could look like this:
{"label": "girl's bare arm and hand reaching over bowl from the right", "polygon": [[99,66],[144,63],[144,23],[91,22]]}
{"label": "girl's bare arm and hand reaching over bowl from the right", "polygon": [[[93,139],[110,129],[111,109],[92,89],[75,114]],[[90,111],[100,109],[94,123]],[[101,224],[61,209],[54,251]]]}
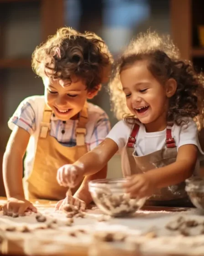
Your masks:
{"label": "girl's bare arm and hand reaching over bowl from the right", "polygon": [[192,176],[198,155],[198,148],[193,144],[179,147],[177,159],[173,164],[136,174],[124,184],[127,193],[146,197],[153,194],[155,188],[176,185]]}

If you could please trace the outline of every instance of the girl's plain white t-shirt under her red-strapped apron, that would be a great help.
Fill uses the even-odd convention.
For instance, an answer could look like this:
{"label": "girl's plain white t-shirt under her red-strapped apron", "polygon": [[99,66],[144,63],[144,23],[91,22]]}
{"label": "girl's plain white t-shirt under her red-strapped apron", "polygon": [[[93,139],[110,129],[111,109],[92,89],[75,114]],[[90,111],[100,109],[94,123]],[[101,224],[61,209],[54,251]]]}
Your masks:
{"label": "girl's plain white t-shirt under her red-strapped apron", "polygon": [[[135,151],[138,156],[148,155],[154,151],[163,149],[166,147],[166,129],[160,132],[147,133],[145,127],[142,123],[138,123],[140,126],[136,144],[134,145]],[[128,138],[132,132],[133,125],[125,123],[121,120],[115,124],[115,126],[108,133],[107,138],[112,139],[118,146],[118,151],[121,153],[122,157],[122,172],[124,175],[130,174],[130,167],[125,152],[125,146],[128,142]],[[197,126],[194,123],[193,119],[189,118],[189,123],[184,124],[184,126],[178,126],[176,124],[172,127],[172,137],[176,141],[177,149],[182,145],[194,144],[198,147],[200,155],[204,155],[198,139],[198,130]],[[201,157],[199,157],[199,160]],[[199,168],[198,164],[196,165],[196,171]]]}

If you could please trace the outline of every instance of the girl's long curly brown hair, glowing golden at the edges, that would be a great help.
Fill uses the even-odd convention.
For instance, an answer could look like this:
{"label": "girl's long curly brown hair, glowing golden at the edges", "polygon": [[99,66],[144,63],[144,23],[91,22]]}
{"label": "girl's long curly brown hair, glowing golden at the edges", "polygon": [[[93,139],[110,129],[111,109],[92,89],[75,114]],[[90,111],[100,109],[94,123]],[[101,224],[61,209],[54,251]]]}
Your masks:
{"label": "girl's long curly brown hair, glowing golden at the edges", "polygon": [[[180,125],[184,120],[183,117],[192,117],[201,129],[204,112],[204,75],[196,73],[189,61],[180,59],[179,50],[169,36],[160,37],[156,32],[150,31],[140,33],[130,43],[113,69],[109,90],[116,117],[126,120],[137,118],[131,114],[126,105],[120,73],[139,60],[148,61],[149,71],[161,84],[170,78],[177,82],[177,90],[169,99],[168,122]],[[132,122],[134,122],[133,119]]]}

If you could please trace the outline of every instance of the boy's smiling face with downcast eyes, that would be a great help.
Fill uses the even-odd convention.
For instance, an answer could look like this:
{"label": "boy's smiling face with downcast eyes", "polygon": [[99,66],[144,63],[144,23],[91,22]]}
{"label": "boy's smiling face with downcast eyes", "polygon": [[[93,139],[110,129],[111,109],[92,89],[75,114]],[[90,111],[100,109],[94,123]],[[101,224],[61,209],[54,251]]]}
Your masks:
{"label": "boy's smiling face with downcast eyes", "polygon": [[46,104],[51,107],[56,117],[62,121],[77,118],[87,98],[95,96],[96,91],[87,91],[85,81],[72,78],[70,81],[43,78]]}

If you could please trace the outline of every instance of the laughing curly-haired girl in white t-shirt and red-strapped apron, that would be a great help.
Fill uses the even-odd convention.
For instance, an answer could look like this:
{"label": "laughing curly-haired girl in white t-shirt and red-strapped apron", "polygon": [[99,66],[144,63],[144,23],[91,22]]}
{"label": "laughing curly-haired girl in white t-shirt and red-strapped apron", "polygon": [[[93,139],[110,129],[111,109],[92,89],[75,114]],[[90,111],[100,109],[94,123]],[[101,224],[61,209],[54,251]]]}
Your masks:
{"label": "laughing curly-haired girl in white t-shirt and red-strapped apron", "polygon": [[184,181],[199,171],[198,130],[202,126],[204,76],[180,59],[169,37],[140,34],[116,63],[110,92],[119,121],[107,138],[57,173],[75,186],[101,170],[119,150],[124,184],[133,197],[162,206],[191,205]]}

